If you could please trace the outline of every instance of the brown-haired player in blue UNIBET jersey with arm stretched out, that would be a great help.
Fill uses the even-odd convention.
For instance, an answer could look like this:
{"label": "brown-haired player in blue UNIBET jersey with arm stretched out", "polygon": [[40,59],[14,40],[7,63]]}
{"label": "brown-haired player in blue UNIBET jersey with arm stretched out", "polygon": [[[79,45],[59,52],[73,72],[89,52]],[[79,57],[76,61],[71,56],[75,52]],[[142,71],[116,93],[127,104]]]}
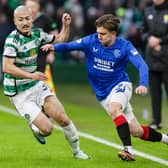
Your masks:
{"label": "brown-haired player in blue UNIBET jersey with arm stretched out", "polygon": [[77,41],[44,45],[43,50],[65,52],[83,50],[86,55],[88,80],[97,100],[114,121],[123,150],[118,153],[122,160],[134,161],[131,134],[143,140],[168,144],[168,136],[148,126],[141,126],[136,120],[130,99],[132,84],[125,72],[131,62],[139,71],[139,86],[136,94],[146,94],[148,67],[131,42],[117,36],[119,19],[111,14],[103,15],[95,22],[97,33]]}

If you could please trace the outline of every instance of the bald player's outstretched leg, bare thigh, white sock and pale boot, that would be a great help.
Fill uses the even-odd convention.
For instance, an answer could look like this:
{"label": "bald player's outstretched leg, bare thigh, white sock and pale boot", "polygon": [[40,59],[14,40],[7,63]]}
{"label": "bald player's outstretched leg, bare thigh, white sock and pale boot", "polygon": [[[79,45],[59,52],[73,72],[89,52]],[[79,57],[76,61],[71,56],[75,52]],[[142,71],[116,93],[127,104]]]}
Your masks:
{"label": "bald player's outstretched leg, bare thigh, white sock and pale boot", "polygon": [[89,159],[89,156],[80,150],[79,136],[76,127],[65,113],[65,110],[57,97],[46,97],[43,107],[45,113],[62,127],[65,138],[72,148],[74,157],[79,159]]}

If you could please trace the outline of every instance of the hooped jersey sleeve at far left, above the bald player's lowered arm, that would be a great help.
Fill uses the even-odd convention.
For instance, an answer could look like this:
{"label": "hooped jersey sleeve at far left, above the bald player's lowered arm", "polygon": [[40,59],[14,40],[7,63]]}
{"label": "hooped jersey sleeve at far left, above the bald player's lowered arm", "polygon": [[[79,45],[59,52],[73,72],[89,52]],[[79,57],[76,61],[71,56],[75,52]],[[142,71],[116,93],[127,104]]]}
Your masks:
{"label": "hooped jersey sleeve at far left, above the bald player's lowered arm", "polygon": [[3,56],[15,58],[17,56],[17,44],[13,38],[7,38],[4,45]]}

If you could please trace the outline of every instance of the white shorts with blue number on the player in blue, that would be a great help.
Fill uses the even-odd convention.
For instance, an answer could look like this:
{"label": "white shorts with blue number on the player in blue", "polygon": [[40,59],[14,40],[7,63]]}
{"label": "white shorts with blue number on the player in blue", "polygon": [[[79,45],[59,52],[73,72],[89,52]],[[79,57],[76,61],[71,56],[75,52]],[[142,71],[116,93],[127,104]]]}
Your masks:
{"label": "white shorts with blue number on the player in blue", "polygon": [[120,82],[111,90],[106,99],[100,101],[100,104],[109,114],[109,104],[112,102],[120,103],[127,121],[130,122],[135,117],[129,103],[131,96],[132,84],[130,82]]}

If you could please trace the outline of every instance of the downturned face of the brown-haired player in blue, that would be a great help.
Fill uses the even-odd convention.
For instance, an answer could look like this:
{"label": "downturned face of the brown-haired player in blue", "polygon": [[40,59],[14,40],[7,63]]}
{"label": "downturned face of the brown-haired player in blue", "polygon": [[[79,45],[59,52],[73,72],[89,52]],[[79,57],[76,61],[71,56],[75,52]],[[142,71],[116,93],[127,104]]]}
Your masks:
{"label": "downturned face of the brown-haired player in blue", "polygon": [[97,27],[97,33],[99,41],[103,46],[111,46],[114,43],[116,32],[110,32],[104,27]]}

